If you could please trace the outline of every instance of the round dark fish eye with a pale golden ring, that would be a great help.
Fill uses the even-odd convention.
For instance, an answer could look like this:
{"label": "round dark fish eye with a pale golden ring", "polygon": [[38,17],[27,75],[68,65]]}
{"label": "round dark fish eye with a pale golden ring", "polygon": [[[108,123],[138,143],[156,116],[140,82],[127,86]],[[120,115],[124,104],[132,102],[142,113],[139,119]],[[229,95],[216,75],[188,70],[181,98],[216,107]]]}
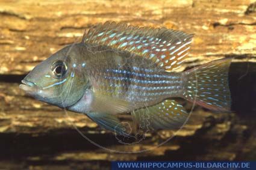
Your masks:
{"label": "round dark fish eye with a pale golden ring", "polygon": [[52,63],[52,74],[60,79],[64,77],[67,73],[67,65],[63,61],[55,61]]}

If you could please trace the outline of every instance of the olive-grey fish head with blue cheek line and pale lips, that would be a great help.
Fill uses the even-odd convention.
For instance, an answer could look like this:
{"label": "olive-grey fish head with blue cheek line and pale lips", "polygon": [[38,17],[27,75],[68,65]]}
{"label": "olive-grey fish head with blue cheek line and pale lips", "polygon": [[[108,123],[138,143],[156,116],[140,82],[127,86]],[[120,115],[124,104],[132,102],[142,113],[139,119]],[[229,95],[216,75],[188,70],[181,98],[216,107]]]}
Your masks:
{"label": "olive-grey fish head with blue cheek line and pale lips", "polygon": [[34,67],[22,80],[20,89],[37,100],[60,108],[75,104],[88,86],[81,55],[81,44],[64,47]]}

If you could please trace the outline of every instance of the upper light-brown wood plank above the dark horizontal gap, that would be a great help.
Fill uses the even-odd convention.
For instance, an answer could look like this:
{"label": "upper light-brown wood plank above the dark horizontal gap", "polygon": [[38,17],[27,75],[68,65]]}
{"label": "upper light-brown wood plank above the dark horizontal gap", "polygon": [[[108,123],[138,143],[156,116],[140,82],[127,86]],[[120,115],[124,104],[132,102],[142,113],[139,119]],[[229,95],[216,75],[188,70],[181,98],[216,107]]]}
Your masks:
{"label": "upper light-brown wood plank above the dark horizontal gap", "polygon": [[1,1],[0,73],[27,73],[64,45],[81,41],[90,25],[107,20],[193,33],[189,61],[195,64],[237,55],[255,62],[252,2]]}

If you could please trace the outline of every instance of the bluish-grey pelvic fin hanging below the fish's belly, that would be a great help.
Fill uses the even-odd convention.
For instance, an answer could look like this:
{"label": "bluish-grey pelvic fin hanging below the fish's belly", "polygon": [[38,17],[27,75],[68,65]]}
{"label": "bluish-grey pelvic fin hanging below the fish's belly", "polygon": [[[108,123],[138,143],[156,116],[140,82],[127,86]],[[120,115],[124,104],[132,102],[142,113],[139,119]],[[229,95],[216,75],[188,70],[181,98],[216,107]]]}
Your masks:
{"label": "bluish-grey pelvic fin hanging below the fish's belly", "polygon": [[125,127],[122,126],[119,119],[115,115],[111,114],[102,114],[91,112],[86,114],[89,118],[91,118],[95,123],[104,129],[110,130],[112,132],[117,133],[118,135],[126,135],[128,133],[125,132]]}

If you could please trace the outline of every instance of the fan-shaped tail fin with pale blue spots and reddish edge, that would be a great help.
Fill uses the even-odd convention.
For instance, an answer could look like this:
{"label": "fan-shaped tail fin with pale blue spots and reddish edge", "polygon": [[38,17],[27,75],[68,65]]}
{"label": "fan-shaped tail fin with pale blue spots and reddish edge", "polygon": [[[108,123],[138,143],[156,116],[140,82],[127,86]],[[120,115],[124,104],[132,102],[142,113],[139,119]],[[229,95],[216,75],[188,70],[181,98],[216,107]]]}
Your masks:
{"label": "fan-shaped tail fin with pale blue spots and reddish edge", "polygon": [[183,73],[183,97],[213,111],[230,111],[228,70],[232,58],[217,59]]}

